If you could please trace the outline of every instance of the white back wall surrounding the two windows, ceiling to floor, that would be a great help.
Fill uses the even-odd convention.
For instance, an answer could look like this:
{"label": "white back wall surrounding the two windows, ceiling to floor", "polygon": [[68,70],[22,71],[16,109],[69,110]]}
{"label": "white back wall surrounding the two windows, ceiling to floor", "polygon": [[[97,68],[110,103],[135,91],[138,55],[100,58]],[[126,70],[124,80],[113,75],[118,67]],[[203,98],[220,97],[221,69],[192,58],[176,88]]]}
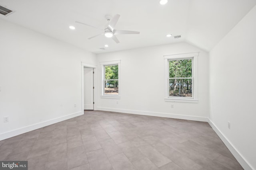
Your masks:
{"label": "white back wall surrounding the two windows, ceiling to floor", "polygon": [[[164,55],[191,52],[200,52],[198,57],[199,103],[165,102]],[[101,91],[98,90],[97,109],[207,121],[208,53],[187,43],[175,43],[98,54],[97,59],[99,62],[121,60],[119,82],[121,99],[100,98]],[[100,66],[99,63],[98,66]],[[101,82],[99,74],[98,82]],[[101,88],[99,83],[98,89]],[[174,108],[171,108],[171,104],[174,104]]]}

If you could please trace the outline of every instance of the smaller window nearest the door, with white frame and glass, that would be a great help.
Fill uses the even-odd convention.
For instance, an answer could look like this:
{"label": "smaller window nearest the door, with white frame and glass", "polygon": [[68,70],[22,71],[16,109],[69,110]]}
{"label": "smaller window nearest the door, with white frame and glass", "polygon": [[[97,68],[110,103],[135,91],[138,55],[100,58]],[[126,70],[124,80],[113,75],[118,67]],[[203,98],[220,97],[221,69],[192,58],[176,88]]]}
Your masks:
{"label": "smaller window nearest the door, with white frame and glass", "polygon": [[120,61],[101,62],[102,98],[120,98]]}

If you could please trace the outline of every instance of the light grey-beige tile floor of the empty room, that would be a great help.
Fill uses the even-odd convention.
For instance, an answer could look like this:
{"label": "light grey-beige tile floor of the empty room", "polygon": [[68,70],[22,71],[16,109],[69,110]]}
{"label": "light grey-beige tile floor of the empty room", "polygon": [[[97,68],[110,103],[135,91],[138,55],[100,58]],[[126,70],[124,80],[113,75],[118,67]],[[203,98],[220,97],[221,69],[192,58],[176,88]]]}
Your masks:
{"label": "light grey-beige tile floor of the empty room", "polygon": [[206,122],[85,111],[0,141],[29,170],[242,170]]}

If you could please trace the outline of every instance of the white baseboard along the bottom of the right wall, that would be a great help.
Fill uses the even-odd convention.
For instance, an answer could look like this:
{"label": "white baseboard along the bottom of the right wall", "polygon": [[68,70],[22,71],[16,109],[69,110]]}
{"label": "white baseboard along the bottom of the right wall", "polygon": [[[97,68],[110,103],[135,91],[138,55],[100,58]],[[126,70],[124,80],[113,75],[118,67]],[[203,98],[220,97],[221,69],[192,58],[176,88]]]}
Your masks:
{"label": "white baseboard along the bottom of the right wall", "polygon": [[230,152],[234,155],[236,160],[240,163],[240,165],[245,170],[255,170],[250,163],[240,154],[240,152],[232,145],[232,143],[226,138],[226,136],[216,127],[216,125],[212,122],[211,119],[208,118],[208,123],[212,127],[212,129],[217,133],[222,142],[226,145],[226,147],[230,150]]}

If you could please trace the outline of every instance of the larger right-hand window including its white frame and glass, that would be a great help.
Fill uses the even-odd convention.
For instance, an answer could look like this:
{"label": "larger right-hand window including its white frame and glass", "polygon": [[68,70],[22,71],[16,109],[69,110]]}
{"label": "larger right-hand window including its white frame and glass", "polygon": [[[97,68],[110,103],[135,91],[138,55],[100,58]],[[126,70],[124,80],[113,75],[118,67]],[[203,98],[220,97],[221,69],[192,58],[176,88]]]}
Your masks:
{"label": "larger right-hand window including its white frame and glass", "polygon": [[197,100],[198,53],[166,55],[165,79],[167,102],[198,102]]}

